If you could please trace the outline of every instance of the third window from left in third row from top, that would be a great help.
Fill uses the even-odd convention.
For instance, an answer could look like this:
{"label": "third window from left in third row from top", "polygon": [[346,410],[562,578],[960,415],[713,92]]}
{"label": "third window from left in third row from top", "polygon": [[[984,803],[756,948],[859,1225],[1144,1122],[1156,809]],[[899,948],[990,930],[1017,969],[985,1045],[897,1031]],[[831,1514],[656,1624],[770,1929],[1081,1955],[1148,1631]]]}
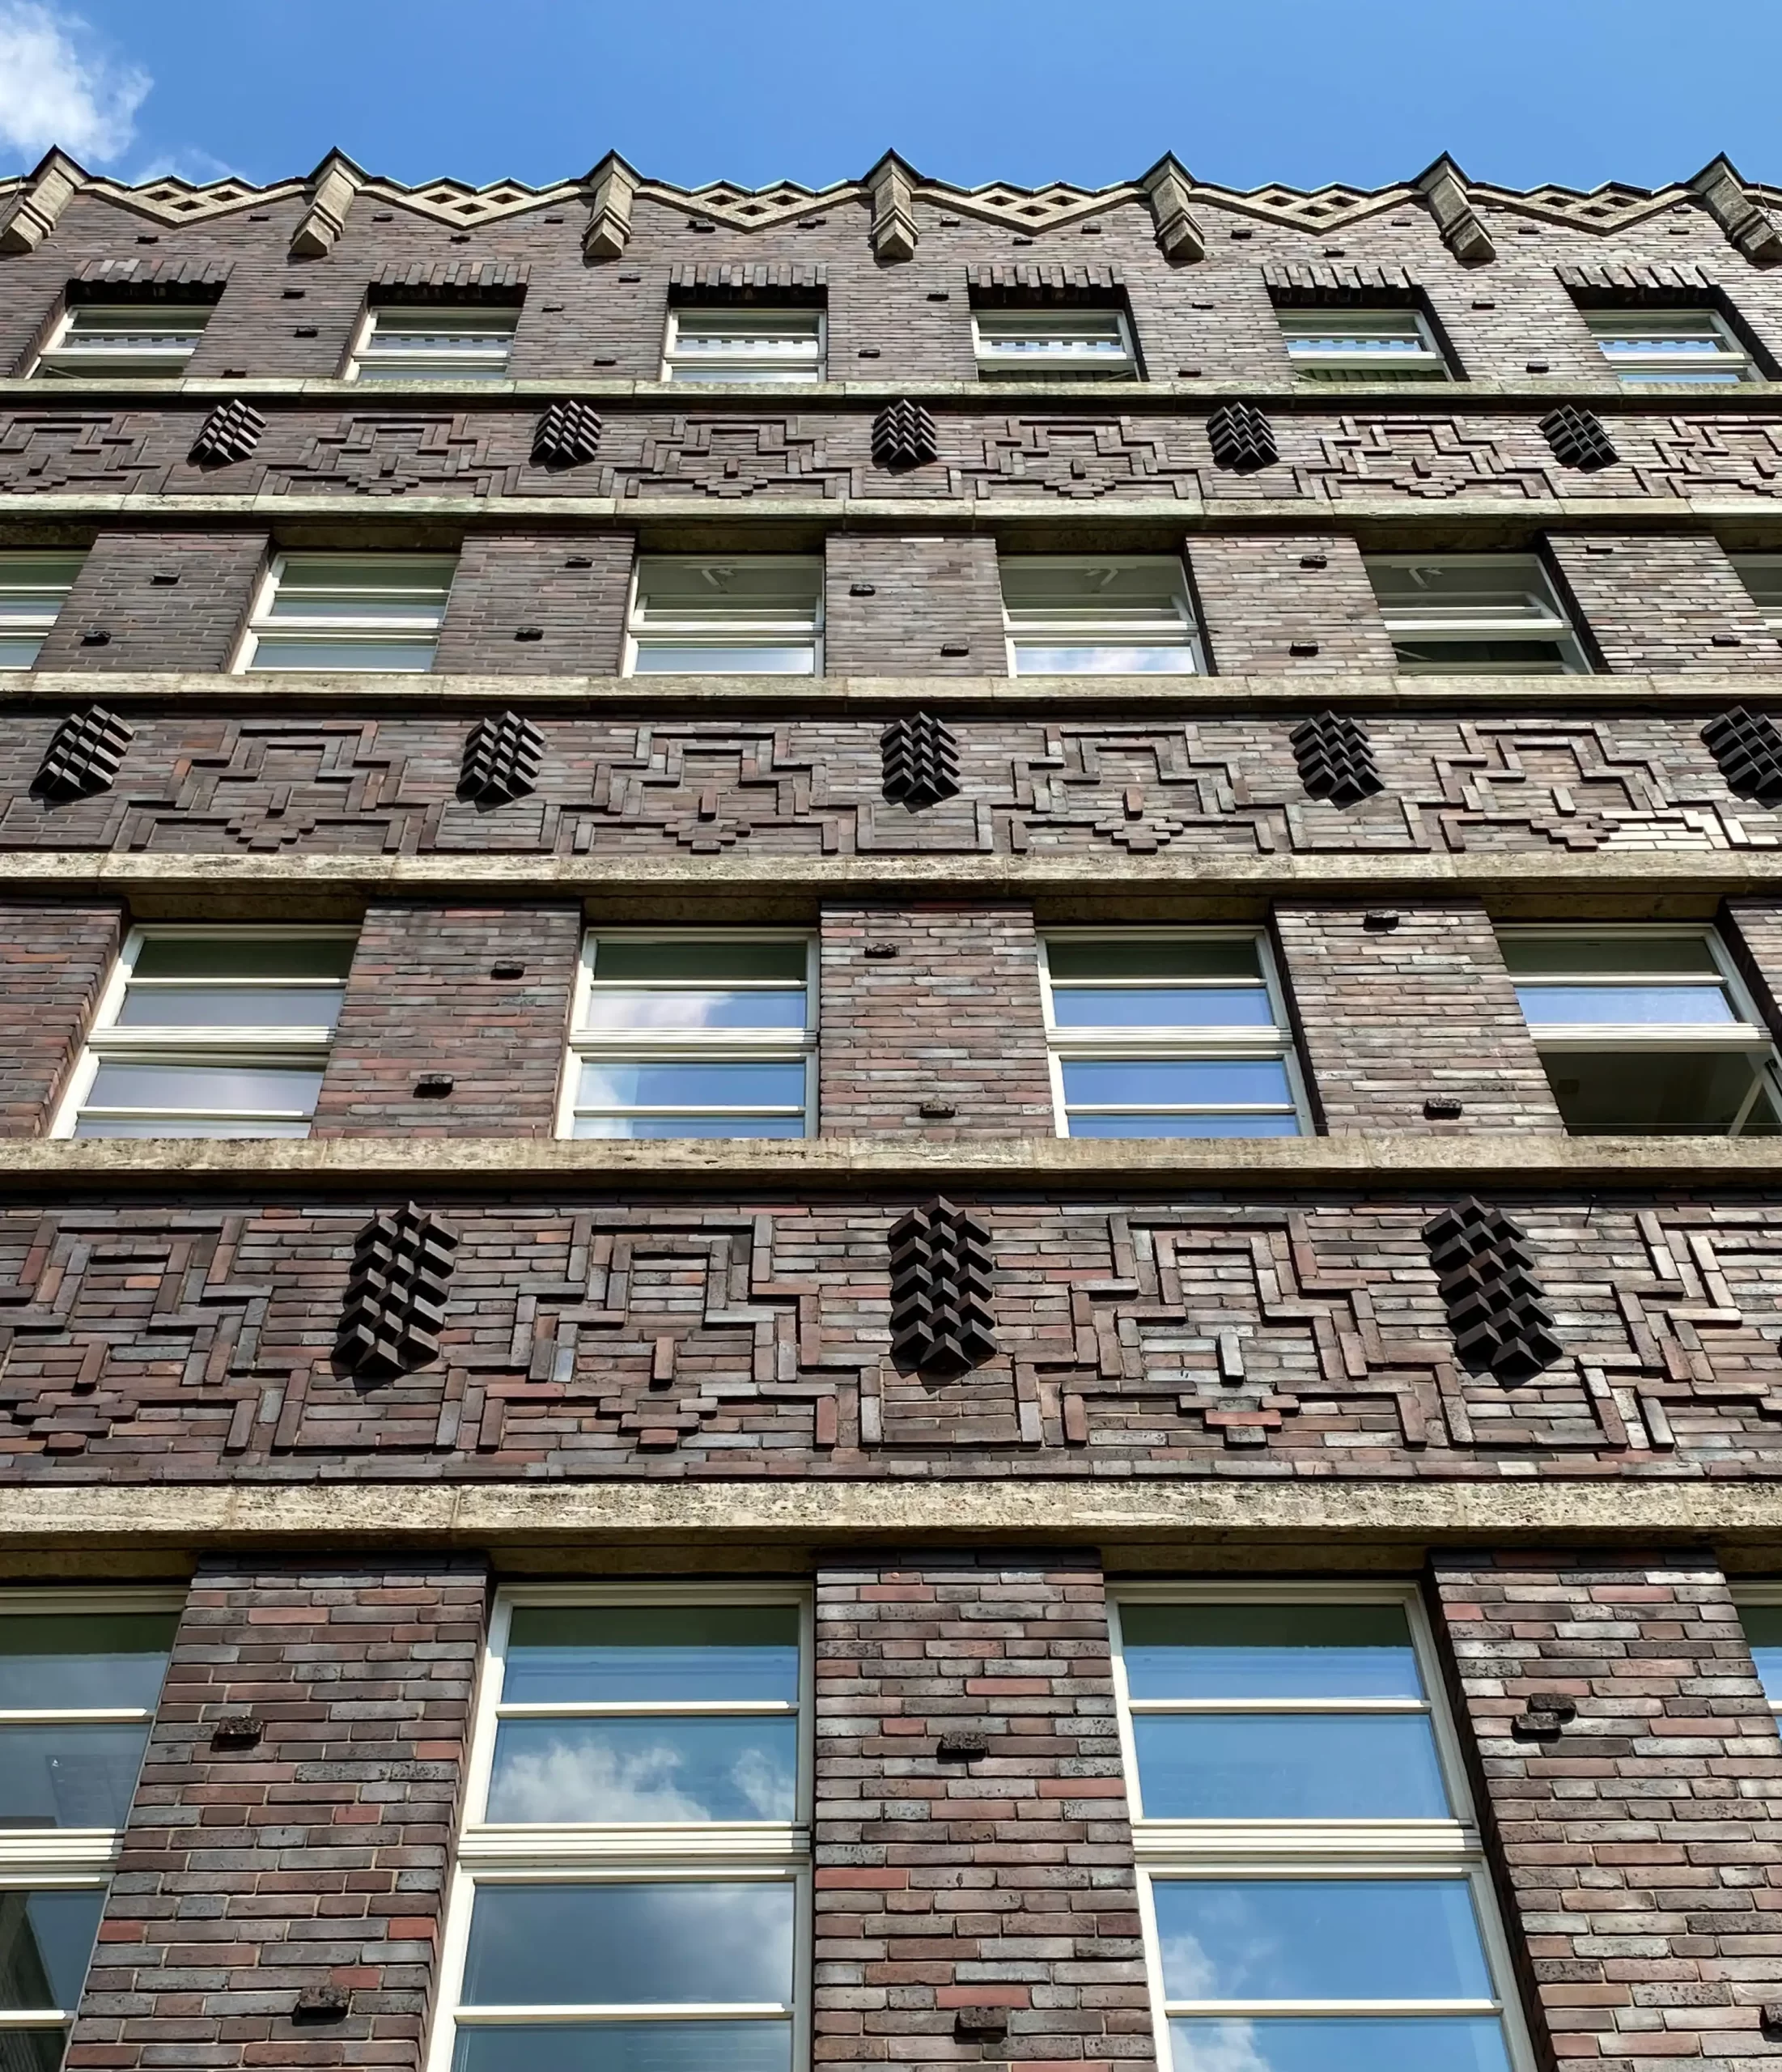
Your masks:
{"label": "third window from left in third row from top", "polygon": [[1293,1042],[1254,930],[1042,945],[1063,1138],[1297,1138]]}

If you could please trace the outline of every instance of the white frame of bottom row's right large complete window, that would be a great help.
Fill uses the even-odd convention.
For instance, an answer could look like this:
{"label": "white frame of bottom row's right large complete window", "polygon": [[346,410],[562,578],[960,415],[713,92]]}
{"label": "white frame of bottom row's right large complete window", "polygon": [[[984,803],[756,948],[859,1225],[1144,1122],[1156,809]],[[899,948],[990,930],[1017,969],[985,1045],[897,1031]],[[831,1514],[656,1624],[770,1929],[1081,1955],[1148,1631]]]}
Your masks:
{"label": "white frame of bottom row's right large complete window", "polygon": [[[1133,1701],[1125,1674],[1121,1637],[1121,1606],[1125,1604],[1395,1604],[1401,1606],[1411,1631],[1411,1649],[1424,1699],[1148,1699]],[[1417,2016],[1417,2014],[1479,2014],[1496,2016],[1504,2026],[1511,2072],[1535,2072],[1533,2047],[1521,1995],[1515,1987],[1515,1966],[1508,1935],[1498,1917],[1484,1838],[1467,1786],[1461,1740],[1442,1697],[1442,1674],[1434,1651],[1424,1600],[1413,1583],[1121,1583],[1109,1598],[1113,1629],[1115,1709],[1119,1714],[1121,1763],[1131,1798],[1133,1859],[1140,1883],[1140,1923],[1144,1935],[1146,1977],[1150,1981],[1156,2053],[1162,2072],[1171,2072],[1171,2020],[1243,2020],[1268,2014],[1299,2016]],[[1395,1711],[1424,1714],[1436,1743],[1436,1763],[1448,1790],[1448,1819],[1146,1819],[1142,1813],[1142,1782],[1133,1740],[1136,1714],[1359,1714]],[[1384,1999],[1384,2002],[1171,2002],[1165,1993],[1162,1948],[1156,1927],[1158,1879],[1380,1879],[1395,1881],[1428,1877],[1465,1881],[1479,1925],[1496,1993],[1482,2002]]]}

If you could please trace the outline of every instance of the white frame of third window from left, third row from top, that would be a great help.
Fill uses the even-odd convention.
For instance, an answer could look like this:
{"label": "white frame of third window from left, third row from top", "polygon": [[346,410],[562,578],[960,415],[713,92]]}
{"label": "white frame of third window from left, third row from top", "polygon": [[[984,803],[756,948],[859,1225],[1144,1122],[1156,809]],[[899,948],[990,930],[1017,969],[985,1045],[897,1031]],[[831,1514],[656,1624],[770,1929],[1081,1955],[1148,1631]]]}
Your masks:
{"label": "white frame of third window from left, third row from top", "polygon": [[[1281,992],[1281,976],[1274,970],[1274,957],[1268,951],[1268,937],[1262,928],[1119,928],[1121,943],[1175,943],[1175,941],[1229,941],[1229,943],[1254,943],[1256,961],[1262,972],[1262,988],[1268,999],[1268,1009],[1274,1015],[1272,1026],[1152,1026],[1152,1028],[1090,1028],[1084,1024],[1073,1024],[1061,1028],[1053,1015],[1053,959],[1051,945],[1055,941],[1090,941],[1106,943],[1115,930],[1109,928],[1040,928],[1040,999],[1044,1001],[1046,1013],[1046,1053],[1051,1061],[1053,1075],[1053,1127],[1055,1133],[1067,1138],[1071,1133],[1071,1115],[1065,1104],[1065,1065],[1092,1059],[1096,1063],[1175,1063],[1185,1061],[1256,1061],[1256,1059],[1281,1059],[1287,1065],[1287,1096],[1293,1104],[1293,1119],[1299,1125],[1299,1135],[1307,1135],[1307,1104],[1305,1104],[1305,1080],[1299,1071],[1299,1053],[1293,1042],[1293,1028],[1287,1021],[1287,1001]],[[1156,992],[1160,986],[1179,988],[1231,988],[1241,980],[1233,978],[1109,978],[1098,980],[1098,984],[1109,990],[1131,990],[1131,992]],[[1077,1104],[1084,1111],[1084,1104]],[[1088,1113],[1096,1115],[1158,1115],[1165,1113],[1167,1102],[1106,1102],[1092,1104]],[[1194,1104],[1183,1106],[1183,1115],[1278,1115],[1283,1109],[1268,1106],[1212,1106]],[[1148,1138],[1140,1142],[1169,1142],[1162,1138]],[[1179,1142],[1179,1140],[1177,1140]]]}

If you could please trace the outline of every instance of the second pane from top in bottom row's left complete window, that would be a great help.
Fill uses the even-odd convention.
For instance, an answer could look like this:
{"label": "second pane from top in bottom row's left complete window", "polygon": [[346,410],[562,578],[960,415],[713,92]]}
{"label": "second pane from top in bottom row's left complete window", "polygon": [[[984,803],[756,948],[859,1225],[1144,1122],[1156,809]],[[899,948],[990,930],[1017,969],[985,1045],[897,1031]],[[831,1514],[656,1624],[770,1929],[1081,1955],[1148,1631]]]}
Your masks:
{"label": "second pane from top in bottom row's left complete window", "polygon": [[489,1819],[792,1819],[798,1722],[504,1720]]}

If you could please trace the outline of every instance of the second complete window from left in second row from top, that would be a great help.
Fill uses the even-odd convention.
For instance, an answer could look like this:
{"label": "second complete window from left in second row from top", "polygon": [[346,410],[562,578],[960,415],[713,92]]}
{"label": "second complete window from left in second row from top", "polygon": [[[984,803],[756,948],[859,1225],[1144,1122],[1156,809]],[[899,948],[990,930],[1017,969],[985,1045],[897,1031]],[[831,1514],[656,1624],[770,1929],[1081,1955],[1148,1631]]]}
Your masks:
{"label": "second complete window from left in second row from top", "polygon": [[823,562],[646,553],[632,584],[626,675],[818,675]]}

